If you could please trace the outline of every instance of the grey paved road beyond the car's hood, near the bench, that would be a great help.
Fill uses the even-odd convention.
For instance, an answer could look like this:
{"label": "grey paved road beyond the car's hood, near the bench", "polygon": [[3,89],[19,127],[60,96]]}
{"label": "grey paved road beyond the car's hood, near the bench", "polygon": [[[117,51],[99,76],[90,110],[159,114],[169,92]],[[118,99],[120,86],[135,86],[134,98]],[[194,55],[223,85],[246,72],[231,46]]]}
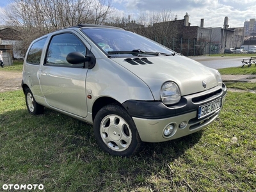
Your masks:
{"label": "grey paved road beyond the car's hood, near the bench", "polygon": [[[203,65],[211,68],[228,68],[228,67],[242,67],[241,61],[248,57],[237,57],[237,56],[191,56],[192,60],[198,61]],[[247,65],[246,65],[247,67]]]}

